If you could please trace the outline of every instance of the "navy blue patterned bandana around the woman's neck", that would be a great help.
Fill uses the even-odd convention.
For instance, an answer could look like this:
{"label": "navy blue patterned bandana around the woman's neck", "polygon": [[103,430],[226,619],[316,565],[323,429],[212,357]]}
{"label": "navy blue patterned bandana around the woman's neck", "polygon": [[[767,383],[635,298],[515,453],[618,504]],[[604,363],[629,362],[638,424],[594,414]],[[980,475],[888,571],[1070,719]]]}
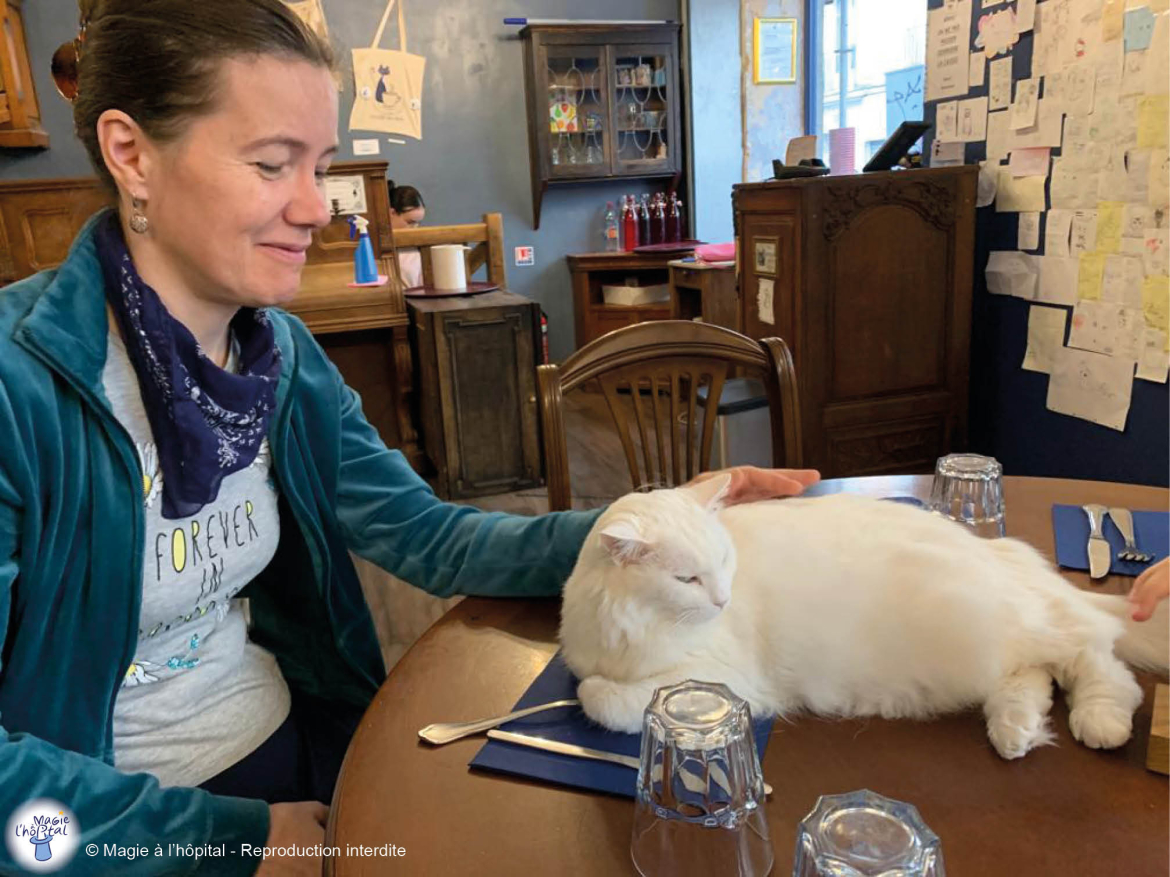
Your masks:
{"label": "navy blue patterned bandana around the woman's neck", "polygon": [[216,366],[135,270],[117,214],[96,229],[105,297],[138,375],[163,470],[163,517],[186,518],[214,502],[220,483],[260,450],[276,403],[281,352],[260,309],[232,318],[239,371]]}

